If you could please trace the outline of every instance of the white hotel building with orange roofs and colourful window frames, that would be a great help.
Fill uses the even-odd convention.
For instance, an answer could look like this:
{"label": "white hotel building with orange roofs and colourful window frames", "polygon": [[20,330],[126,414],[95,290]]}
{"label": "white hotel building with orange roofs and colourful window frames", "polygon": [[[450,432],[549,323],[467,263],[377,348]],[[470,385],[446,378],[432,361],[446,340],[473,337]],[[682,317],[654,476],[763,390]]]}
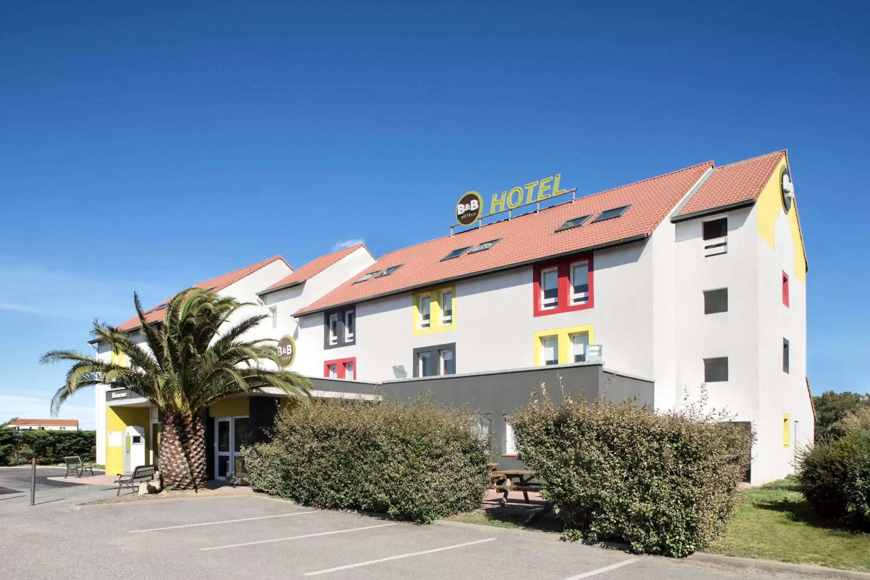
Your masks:
{"label": "white hotel building with orange roofs and colourful window frames", "polygon": [[[360,244],[298,270],[272,257],[196,285],[268,314],[251,333],[292,337],[291,369],[311,377],[316,397],[429,391],[492,428],[499,463],[519,462],[508,416],[541,383],[558,399],[561,383],[574,396],[634,397],[658,411],[705,389],[710,408],[756,431],[753,484],[793,472],[814,417],[806,257],[786,151],[570,199],[558,176],[536,184],[549,207],[496,212],[499,221],[472,220],[378,259]],[[492,206],[514,209],[513,191]],[[136,337],[137,327],[132,318],[120,328]],[[264,391],[211,406],[213,477],[244,469],[238,450],[264,437],[280,403]],[[159,419],[134,393],[97,389],[97,461],[112,473],[152,463]]]}

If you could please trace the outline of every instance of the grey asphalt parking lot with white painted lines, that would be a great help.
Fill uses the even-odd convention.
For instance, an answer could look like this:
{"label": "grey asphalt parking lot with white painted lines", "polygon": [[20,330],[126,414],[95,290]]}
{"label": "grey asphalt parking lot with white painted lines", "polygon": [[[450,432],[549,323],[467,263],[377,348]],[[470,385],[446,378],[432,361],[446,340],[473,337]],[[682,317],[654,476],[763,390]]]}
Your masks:
{"label": "grey asphalt parking lot with white painted lines", "polygon": [[[86,487],[86,486],[80,486]],[[66,491],[66,490],[64,490]],[[112,494],[114,495],[114,494]],[[523,578],[786,576],[635,557],[495,527],[418,526],[267,497],[171,499],[0,516],[0,577]]]}

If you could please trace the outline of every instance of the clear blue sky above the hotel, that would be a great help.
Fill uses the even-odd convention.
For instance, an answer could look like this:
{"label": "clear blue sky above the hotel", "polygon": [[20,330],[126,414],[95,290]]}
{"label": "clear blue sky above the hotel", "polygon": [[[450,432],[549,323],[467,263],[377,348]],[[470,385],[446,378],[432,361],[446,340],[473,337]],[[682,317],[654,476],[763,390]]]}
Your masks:
{"label": "clear blue sky above the hotel", "polygon": [[0,420],[46,416],[64,369],[37,357],[88,350],[133,290],[379,256],[444,235],[466,190],[786,148],[813,390],[867,392],[868,24],[859,2],[6,3]]}

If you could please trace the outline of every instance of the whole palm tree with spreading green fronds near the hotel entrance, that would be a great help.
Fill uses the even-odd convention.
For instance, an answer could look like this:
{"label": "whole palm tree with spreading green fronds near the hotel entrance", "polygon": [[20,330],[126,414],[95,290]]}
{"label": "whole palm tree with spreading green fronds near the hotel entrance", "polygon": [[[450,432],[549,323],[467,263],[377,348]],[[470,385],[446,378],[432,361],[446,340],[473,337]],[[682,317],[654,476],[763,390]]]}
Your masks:
{"label": "whole palm tree with spreading green fronds near the hotel entrance", "polygon": [[[201,413],[212,403],[261,387],[276,387],[302,403],[310,400],[311,381],[281,369],[275,340],[242,339],[267,315],[231,322],[233,315],[250,303],[189,288],[171,299],[163,323],[154,325],[145,322],[139,297],[133,297],[144,344],[133,342],[127,331],[96,320],[93,328],[94,337],[109,344],[113,352],[124,352],[130,366],[106,363],[73,350],[52,350],[40,362],[72,363],[66,383],[51,402],[55,416],[67,398],[100,383],[129,389],[163,411],[157,468],[167,486],[190,490],[204,484],[205,426]],[[263,361],[276,363],[278,370],[264,369]]]}

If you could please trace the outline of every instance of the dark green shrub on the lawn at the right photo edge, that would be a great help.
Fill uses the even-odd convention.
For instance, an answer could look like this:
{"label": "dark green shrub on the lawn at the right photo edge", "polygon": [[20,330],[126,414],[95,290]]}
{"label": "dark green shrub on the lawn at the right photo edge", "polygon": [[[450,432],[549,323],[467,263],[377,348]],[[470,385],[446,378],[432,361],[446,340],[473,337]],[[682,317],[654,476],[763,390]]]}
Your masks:
{"label": "dark green shrub on the lawn at the right photo edge", "polygon": [[821,515],[870,531],[870,430],[851,430],[802,451],[798,481]]}

